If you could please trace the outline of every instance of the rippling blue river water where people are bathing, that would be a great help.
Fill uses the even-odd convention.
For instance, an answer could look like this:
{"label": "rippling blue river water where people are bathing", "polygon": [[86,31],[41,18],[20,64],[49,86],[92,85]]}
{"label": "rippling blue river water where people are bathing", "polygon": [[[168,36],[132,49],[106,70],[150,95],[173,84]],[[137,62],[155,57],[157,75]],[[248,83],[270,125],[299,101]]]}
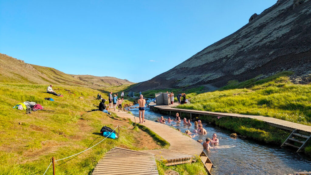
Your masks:
{"label": "rippling blue river water where people are bathing", "polygon": [[[130,111],[134,116],[138,117],[137,108],[130,109]],[[147,120],[155,121],[161,116],[164,116],[166,119],[168,117],[171,117],[172,120],[175,119],[174,116],[161,115],[146,108],[145,118]],[[172,124],[175,124],[175,122],[172,122]],[[192,125],[194,126],[193,122]],[[184,133],[185,130],[193,131],[193,126],[180,125],[174,127],[180,128],[181,132]],[[301,171],[311,171],[311,159],[304,155],[299,155],[280,147],[258,144],[248,139],[232,139],[230,138],[231,132],[229,130],[214,125],[203,123],[203,128],[207,130],[207,135],[198,135],[193,138],[194,140],[202,139],[205,141],[207,137],[212,138],[213,133],[216,133],[219,139],[218,146],[211,145],[210,151],[204,149],[215,166],[215,168],[211,169],[213,175],[286,175]],[[182,149],[182,145],[180,145],[180,149]]]}

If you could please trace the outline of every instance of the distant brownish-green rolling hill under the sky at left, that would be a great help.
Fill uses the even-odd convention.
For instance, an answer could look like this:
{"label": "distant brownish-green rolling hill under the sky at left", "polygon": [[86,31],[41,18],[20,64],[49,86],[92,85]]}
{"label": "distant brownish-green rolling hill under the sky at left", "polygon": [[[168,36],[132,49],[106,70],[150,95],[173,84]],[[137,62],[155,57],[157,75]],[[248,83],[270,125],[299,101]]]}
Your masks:
{"label": "distant brownish-green rolling hill under the sky at left", "polygon": [[61,84],[92,88],[132,84],[127,79],[114,77],[71,75],[54,68],[27,64],[23,60],[1,53],[0,68],[0,82],[2,83]]}

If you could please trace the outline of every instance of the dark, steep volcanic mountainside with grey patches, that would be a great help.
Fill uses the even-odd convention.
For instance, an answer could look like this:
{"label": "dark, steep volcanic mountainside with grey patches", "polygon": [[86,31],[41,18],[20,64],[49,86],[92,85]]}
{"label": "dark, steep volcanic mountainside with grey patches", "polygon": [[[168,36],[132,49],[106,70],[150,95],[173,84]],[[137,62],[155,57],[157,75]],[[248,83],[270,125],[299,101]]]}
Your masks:
{"label": "dark, steep volcanic mountainside with grey patches", "polygon": [[[247,25],[133,90],[245,81],[290,70],[311,71],[311,0],[280,0]],[[311,76],[305,76],[311,77]],[[310,81],[307,80],[307,81]]]}

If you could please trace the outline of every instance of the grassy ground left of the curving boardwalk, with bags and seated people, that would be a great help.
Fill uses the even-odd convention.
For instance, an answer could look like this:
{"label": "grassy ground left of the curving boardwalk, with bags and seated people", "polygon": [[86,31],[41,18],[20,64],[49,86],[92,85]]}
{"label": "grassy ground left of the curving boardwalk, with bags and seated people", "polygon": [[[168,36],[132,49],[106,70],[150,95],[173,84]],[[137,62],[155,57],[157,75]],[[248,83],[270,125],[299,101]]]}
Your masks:
{"label": "grassy ground left of the curving boardwalk, with bags and seated people", "polygon": [[[54,86],[56,92],[64,95],[56,97],[43,93],[45,90],[46,85],[0,84],[0,174],[43,174],[52,156],[67,157],[99,142],[103,138],[98,135],[102,126],[129,126],[128,121],[109,117],[101,111],[86,112],[97,108],[99,100],[93,96],[99,91]],[[104,98],[106,95],[102,94]],[[55,101],[46,101],[44,97],[52,97]],[[55,112],[37,111],[26,115],[24,110],[12,109],[16,103],[24,101],[37,102]],[[113,146],[142,149],[135,144],[141,132],[122,132],[120,140],[107,139],[68,162],[65,162],[68,159],[58,162],[57,174],[88,174]]]}

